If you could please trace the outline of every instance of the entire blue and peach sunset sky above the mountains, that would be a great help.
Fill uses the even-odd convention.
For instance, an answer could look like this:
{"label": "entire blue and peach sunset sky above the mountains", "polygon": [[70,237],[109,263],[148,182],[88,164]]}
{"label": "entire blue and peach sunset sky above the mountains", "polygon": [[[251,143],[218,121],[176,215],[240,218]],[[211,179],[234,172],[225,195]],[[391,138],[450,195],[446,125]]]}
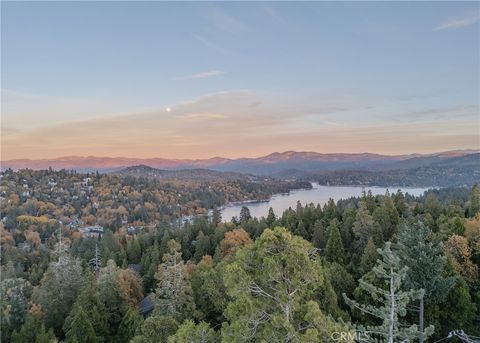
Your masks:
{"label": "entire blue and peach sunset sky above the mountains", "polygon": [[2,160],[480,148],[479,2],[1,10]]}

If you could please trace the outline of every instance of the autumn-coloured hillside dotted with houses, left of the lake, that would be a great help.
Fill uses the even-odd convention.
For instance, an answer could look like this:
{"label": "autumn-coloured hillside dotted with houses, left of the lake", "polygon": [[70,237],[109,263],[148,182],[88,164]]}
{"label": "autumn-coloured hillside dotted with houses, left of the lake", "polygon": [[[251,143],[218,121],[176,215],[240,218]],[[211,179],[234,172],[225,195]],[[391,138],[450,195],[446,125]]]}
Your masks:
{"label": "autumn-coloured hillside dotted with houses, left of the lake", "polygon": [[7,170],[0,181],[3,223],[22,235],[29,225],[37,225],[42,239],[60,226],[72,229],[98,224],[116,231],[132,225],[170,223],[229,202],[263,200],[272,194],[311,187],[308,182],[203,170],[167,172],[168,179],[159,180],[140,169],[142,173],[133,175],[132,169],[125,171],[126,175]]}

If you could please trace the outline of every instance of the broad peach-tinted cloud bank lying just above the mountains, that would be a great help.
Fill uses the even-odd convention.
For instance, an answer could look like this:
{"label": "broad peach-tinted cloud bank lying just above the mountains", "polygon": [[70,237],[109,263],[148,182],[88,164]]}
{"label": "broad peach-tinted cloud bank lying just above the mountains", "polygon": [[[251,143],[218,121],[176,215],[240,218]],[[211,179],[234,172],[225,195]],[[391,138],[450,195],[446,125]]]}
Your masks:
{"label": "broad peach-tinted cloud bank lying just above the mountains", "polygon": [[138,156],[139,151],[144,157],[167,158],[258,156],[277,150],[405,153],[478,145],[472,119],[459,116],[475,111],[470,105],[420,109],[414,114],[425,118],[420,122],[365,122],[362,113],[372,107],[344,98],[305,101],[233,90],[168,108],[3,133],[1,157]]}

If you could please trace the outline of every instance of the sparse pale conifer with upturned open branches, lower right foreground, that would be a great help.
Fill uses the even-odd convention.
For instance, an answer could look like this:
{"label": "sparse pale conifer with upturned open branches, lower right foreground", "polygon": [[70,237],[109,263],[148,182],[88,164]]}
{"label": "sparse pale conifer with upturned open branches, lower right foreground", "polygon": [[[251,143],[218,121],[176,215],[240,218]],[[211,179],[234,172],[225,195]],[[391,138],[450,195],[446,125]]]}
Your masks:
{"label": "sparse pale conifer with upturned open branches, lower right foreground", "polygon": [[359,309],[362,313],[377,318],[382,323],[378,326],[359,327],[359,331],[366,331],[372,337],[377,337],[381,342],[394,343],[399,341],[413,341],[419,337],[427,337],[433,332],[429,327],[420,332],[416,325],[403,327],[400,317],[405,316],[408,303],[412,299],[423,296],[423,290],[403,291],[402,283],[405,280],[408,267],[401,267],[400,258],[391,250],[391,243],[387,242],[383,250],[378,249],[381,259],[373,268],[376,278],[383,280],[386,289],[369,283],[361,278],[359,287],[371,295],[372,299],[379,301],[381,306],[363,305],[349,299],[344,294],[345,302],[352,308]]}

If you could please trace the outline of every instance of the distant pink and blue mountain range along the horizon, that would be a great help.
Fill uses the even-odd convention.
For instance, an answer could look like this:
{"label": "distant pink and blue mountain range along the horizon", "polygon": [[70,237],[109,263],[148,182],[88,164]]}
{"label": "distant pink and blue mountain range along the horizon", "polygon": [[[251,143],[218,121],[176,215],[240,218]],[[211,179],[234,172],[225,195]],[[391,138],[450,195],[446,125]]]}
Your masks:
{"label": "distant pink and blue mountain range along the horizon", "polygon": [[131,166],[148,166],[164,170],[210,169],[223,172],[248,173],[268,176],[301,176],[309,173],[333,170],[393,170],[410,169],[435,165],[458,166],[461,164],[478,165],[478,150],[455,150],[436,154],[379,155],[371,153],[323,154],[316,152],[275,152],[258,158],[228,159],[214,157],[210,159],[165,159],[165,158],[127,158],[127,157],[79,157],[69,156],[55,159],[17,159],[3,161],[2,170],[17,169],[75,169],[77,171],[117,172]]}

